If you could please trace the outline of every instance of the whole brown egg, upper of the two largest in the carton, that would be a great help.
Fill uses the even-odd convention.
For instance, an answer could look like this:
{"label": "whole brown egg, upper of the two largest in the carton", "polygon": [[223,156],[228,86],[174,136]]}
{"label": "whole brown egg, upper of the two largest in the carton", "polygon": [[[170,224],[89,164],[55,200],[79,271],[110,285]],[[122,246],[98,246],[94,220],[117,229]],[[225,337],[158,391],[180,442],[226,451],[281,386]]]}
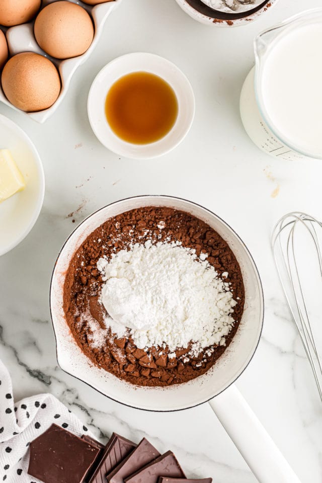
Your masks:
{"label": "whole brown egg, upper of the two largest in the carton", "polygon": [[84,54],[94,37],[93,22],[86,10],[66,1],[41,10],[34,31],[38,45],[57,59]]}

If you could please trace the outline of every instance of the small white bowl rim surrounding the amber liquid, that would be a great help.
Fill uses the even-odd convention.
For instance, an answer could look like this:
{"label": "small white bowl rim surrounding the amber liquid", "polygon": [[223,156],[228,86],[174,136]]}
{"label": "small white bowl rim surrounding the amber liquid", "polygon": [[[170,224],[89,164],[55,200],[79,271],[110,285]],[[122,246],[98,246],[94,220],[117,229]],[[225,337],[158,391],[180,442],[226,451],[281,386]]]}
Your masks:
{"label": "small white bowl rim surrounding the amber liquid", "polygon": [[[162,77],[175,91],[179,106],[171,131],[149,144],[132,144],[119,138],[105,116],[105,100],[111,86],[123,75],[138,71]],[[133,159],[150,159],[171,151],[186,137],[195,115],[195,97],[187,77],[176,65],[158,55],[135,52],[112,60],[98,73],[89,94],[88,115],[94,133],[108,149]]]}

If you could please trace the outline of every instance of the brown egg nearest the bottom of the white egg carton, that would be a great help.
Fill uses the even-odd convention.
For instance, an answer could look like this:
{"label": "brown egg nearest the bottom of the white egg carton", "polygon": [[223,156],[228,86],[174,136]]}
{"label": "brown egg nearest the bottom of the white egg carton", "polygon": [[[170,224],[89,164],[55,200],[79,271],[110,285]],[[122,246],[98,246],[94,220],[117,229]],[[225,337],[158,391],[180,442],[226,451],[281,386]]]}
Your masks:
{"label": "brown egg nearest the bottom of the white egg carton", "polygon": [[27,112],[47,109],[60,92],[60,77],[54,64],[33,52],[11,57],[4,67],[1,82],[7,99]]}

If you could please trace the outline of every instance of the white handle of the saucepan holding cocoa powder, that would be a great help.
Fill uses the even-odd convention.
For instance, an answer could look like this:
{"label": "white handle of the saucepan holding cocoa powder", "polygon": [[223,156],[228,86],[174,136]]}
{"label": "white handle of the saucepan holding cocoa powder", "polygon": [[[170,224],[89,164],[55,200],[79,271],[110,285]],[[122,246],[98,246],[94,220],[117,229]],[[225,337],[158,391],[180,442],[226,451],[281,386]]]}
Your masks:
{"label": "white handle of the saucepan holding cocoa powder", "polygon": [[234,385],[214,397],[209,404],[260,483],[300,483]]}

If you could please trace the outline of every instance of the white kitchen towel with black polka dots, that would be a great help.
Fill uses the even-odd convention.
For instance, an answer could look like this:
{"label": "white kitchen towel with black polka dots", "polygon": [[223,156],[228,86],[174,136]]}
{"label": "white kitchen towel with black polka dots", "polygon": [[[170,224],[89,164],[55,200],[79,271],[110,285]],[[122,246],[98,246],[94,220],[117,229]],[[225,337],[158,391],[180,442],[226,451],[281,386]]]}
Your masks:
{"label": "white kitchen towel with black polka dots", "polygon": [[29,444],[55,423],[93,436],[56,397],[38,394],[14,403],[9,372],[0,360],[0,483],[38,483],[28,475]]}

